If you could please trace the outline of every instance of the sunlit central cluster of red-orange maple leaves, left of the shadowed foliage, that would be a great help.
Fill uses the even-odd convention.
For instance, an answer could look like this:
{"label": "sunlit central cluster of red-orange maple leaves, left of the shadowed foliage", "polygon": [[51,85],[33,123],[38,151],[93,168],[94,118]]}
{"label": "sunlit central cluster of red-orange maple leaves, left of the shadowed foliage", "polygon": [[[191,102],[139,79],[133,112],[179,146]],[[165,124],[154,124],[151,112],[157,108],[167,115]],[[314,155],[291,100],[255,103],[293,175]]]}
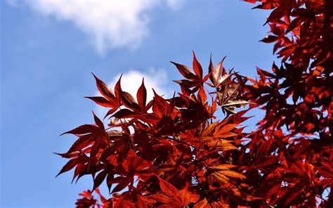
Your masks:
{"label": "sunlit central cluster of red-orange maple leaves, left of the shadowed foliage", "polygon": [[[237,187],[246,176],[231,156],[246,136],[240,123],[247,110],[235,111],[247,105],[240,99],[243,81],[226,72],[223,60],[216,67],[210,62],[207,74],[194,53],[192,69],[172,62],[183,75],[174,81],[181,91],[172,98],[152,89],[154,97],[147,100],[144,80],[134,98],[122,90],[122,77],[112,90],[93,75],[101,96],[87,98],[108,109],[110,123],[93,114],[95,124],[65,132],[78,138],[59,154],[70,159],[59,174],[74,169],[73,180],[91,175],[92,190],[105,182],[112,194],[105,207],[220,206],[242,195],[244,204],[253,200]],[[224,119],[216,119],[218,111]],[[98,207],[88,193],[77,204]]]}

